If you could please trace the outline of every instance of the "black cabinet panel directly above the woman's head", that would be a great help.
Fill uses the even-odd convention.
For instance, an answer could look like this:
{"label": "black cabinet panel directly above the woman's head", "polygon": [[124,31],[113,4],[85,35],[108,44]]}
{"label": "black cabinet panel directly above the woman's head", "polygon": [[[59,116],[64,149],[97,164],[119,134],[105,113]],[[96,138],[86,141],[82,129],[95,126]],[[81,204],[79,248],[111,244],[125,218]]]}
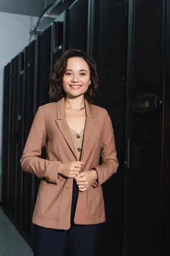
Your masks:
{"label": "black cabinet panel directly above the woman's head", "polygon": [[87,52],[88,0],[78,0],[70,7],[66,21],[68,41],[66,49],[79,49]]}

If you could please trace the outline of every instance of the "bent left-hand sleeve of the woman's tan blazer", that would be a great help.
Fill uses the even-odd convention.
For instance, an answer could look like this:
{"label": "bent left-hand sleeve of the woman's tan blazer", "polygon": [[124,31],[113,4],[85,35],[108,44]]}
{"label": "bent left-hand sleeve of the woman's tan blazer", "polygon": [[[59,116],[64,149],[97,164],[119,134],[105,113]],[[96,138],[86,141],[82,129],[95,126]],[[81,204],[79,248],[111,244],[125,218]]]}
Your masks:
{"label": "bent left-hand sleeve of the woman's tan blazer", "polygon": [[30,133],[20,160],[23,171],[45,178],[48,182],[58,183],[59,165],[62,162],[48,161],[41,157],[42,148],[46,142],[46,131],[42,108],[40,107],[35,115]]}

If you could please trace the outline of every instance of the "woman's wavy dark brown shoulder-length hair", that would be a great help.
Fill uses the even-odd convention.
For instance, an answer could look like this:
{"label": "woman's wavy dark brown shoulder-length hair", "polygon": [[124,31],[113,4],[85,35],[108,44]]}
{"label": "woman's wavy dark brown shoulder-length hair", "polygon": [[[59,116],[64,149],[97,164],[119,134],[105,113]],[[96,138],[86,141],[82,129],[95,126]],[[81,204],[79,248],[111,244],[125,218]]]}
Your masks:
{"label": "woman's wavy dark brown shoulder-length hair", "polygon": [[59,100],[62,97],[66,96],[66,93],[62,87],[62,79],[67,68],[68,58],[73,58],[73,57],[82,58],[88,64],[88,67],[90,69],[90,74],[91,74],[91,84],[90,84],[90,87],[88,87],[87,92],[85,93],[85,99],[87,99],[89,103],[94,103],[94,99],[96,98],[97,93],[99,91],[99,76],[98,76],[96,64],[93,58],[91,58],[86,53],[77,49],[68,49],[59,59],[57,59],[57,62],[54,65],[54,73],[52,73],[49,78],[50,80],[49,95],[51,96],[51,98],[54,98],[56,100]]}

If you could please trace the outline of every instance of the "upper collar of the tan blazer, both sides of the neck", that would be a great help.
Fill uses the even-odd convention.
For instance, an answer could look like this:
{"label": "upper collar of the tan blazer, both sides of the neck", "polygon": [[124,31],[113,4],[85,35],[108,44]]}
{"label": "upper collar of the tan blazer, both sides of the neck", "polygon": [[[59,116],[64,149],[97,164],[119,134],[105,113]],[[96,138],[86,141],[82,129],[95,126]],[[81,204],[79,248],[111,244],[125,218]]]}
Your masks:
{"label": "upper collar of the tan blazer, both sides of the neck", "polygon": [[[94,117],[94,112],[91,104],[85,99],[86,116]],[[57,120],[65,119],[65,97],[57,102]]]}

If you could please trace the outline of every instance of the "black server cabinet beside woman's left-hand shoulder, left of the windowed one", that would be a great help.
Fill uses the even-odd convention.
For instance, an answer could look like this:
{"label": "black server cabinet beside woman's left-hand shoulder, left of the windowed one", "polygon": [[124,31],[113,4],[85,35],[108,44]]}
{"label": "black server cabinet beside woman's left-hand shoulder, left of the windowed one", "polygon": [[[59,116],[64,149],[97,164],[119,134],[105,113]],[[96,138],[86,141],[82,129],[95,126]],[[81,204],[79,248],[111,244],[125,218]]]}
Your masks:
{"label": "black server cabinet beside woman's left-hand shoulder, left of the windowed one", "polygon": [[[35,83],[34,83],[34,115],[37,109],[50,102],[49,96],[49,74],[51,72],[51,33],[52,26],[49,26],[41,35],[36,38],[35,44]],[[45,148],[42,148],[41,158],[46,158]],[[40,186],[40,179],[32,177],[32,208],[31,215],[34,211],[37,193]],[[31,242],[33,247],[34,225],[31,230]]]}

